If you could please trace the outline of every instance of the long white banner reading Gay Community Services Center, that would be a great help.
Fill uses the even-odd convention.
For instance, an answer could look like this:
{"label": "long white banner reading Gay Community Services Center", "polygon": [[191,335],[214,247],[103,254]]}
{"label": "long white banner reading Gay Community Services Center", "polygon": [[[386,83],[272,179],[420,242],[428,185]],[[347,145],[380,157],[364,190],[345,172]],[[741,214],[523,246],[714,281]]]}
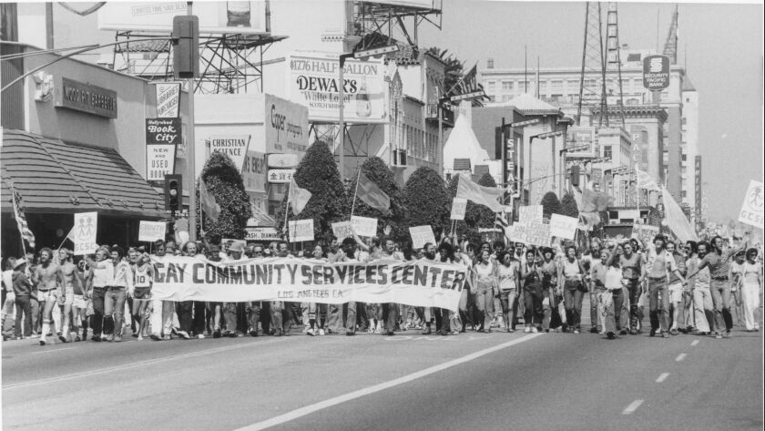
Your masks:
{"label": "long white banner reading Gay Community Services Center", "polygon": [[456,311],[464,288],[461,265],[367,263],[289,258],[210,262],[203,257],[154,258],[151,297],[166,301],[294,301],[405,303]]}

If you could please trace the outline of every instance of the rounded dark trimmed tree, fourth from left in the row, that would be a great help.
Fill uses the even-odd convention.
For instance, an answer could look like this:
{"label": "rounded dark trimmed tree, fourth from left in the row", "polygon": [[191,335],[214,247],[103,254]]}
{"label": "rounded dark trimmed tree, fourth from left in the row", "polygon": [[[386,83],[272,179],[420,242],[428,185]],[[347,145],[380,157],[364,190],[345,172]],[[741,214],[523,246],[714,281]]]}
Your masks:
{"label": "rounded dark trimmed tree, fourth from left in the row", "polygon": [[407,227],[429,224],[436,238],[449,231],[452,197],[435,170],[423,166],[412,173],[403,188],[403,204]]}

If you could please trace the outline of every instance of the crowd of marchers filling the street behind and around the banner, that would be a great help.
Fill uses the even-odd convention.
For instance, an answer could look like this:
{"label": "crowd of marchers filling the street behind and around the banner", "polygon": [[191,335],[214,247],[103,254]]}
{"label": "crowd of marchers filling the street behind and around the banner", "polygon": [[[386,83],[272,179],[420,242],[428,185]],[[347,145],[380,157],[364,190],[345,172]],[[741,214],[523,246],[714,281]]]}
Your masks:
{"label": "crowd of marchers filling the street behind and around the banner", "polygon": [[[421,249],[392,238],[336,238],[311,250],[268,244],[157,241],[149,248],[102,246],[94,255],[43,248],[4,260],[3,339],[39,344],[202,339],[244,335],[359,333],[570,333],[604,338],[648,334],[729,337],[760,330],[762,257],[757,248],[710,241],[598,241],[534,247],[444,237]],[[468,273],[456,311],[403,303],[171,302],[152,298],[152,262],[167,255],[236,261],[279,256],[323,262],[377,259],[450,262]],[[589,327],[582,304],[589,298]],[[648,322],[645,315],[648,314]]]}

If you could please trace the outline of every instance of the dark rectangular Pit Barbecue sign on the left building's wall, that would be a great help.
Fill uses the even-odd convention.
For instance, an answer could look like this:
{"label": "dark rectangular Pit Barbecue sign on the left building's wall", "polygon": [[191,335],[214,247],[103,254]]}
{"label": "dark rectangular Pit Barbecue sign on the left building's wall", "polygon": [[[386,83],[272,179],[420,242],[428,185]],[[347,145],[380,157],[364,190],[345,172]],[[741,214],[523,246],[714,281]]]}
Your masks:
{"label": "dark rectangular Pit Barbecue sign on the left building's wall", "polygon": [[117,92],[59,77],[56,108],[68,108],[106,118],[117,118]]}

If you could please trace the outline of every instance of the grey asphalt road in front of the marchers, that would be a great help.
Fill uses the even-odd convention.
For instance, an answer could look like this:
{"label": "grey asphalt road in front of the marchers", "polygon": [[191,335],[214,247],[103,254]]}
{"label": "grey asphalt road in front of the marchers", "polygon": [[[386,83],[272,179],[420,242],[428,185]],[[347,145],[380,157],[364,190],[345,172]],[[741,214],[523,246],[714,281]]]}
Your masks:
{"label": "grey asphalt road in front of the marchers", "polygon": [[763,339],[359,334],[2,345],[3,429],[763,426]]}

